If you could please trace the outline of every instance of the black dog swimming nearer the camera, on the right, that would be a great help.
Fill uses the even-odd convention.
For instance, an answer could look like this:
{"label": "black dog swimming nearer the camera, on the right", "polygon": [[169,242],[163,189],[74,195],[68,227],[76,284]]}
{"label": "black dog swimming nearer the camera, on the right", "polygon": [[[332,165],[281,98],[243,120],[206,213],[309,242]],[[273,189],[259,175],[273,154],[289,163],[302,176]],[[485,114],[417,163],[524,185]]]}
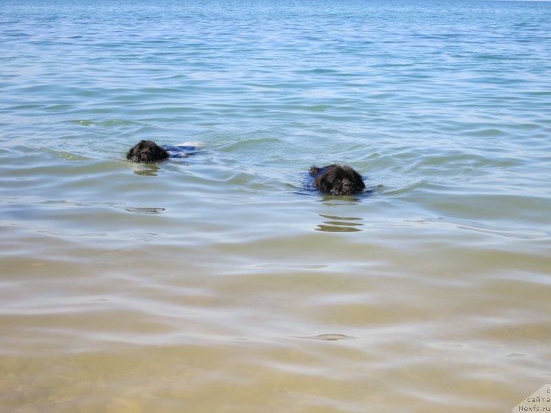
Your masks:
{"label": "black dog swimming nearer the camera, on the right", "polygon": [[342,165],[311,167],[310,176],[314,188],[331,195],[351,195],[362,192],[366,187],[360,173]]}

